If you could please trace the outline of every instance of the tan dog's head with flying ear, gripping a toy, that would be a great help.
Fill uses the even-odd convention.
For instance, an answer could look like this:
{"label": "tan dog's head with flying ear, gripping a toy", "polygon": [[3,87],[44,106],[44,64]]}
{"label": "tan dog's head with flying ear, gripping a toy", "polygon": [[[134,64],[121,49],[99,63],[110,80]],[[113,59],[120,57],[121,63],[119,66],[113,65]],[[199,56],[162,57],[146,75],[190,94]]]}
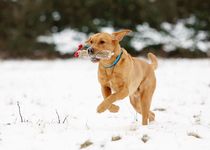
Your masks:
{"label": "tan dog's head with flying ear, gripping a toy", "polygon": [[109,50],[115,53],[117,45],[129,32],[131,30],[121,30],[112,34],[102,32],[90,36],[86,43],[90,45],[88,54],[92,56],[92,62],[98,62],[100,60],[94,57],[94,55],[102,50]]}

